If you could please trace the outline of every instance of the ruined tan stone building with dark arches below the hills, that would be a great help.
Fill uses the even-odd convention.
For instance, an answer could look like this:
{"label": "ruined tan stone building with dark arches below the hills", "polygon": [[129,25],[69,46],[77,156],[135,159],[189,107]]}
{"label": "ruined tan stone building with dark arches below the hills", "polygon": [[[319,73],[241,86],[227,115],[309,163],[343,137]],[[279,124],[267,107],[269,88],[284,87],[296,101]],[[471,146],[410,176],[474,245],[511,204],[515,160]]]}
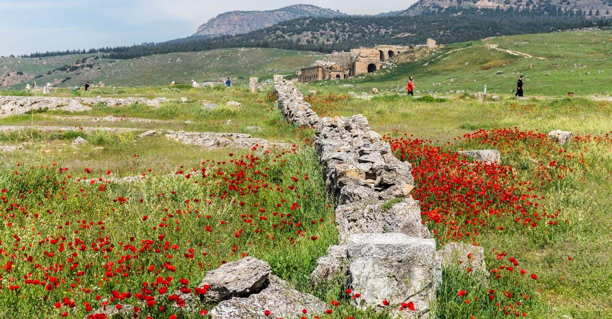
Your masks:
{"label": "ruined tan stone building with dark arches below the hills", "polygon": [[312,82],[371,73],[380,70],[386,60],[410,50],[409,46],[379,45],[333,53],[326,60],[318,60],[311,67],[302,68],[299,79],[300,82]]}

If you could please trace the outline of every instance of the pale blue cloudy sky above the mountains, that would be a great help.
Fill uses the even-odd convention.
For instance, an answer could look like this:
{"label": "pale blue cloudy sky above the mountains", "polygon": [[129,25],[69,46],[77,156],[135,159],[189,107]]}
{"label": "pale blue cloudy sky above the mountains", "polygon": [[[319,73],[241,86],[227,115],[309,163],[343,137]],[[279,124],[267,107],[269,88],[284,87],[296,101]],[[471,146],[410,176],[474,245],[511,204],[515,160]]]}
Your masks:
{"label": "pale blue cloudy sky above the mountains", "polygon": [[[187,37],[219,13],[313,4],[350,14],[408,9],[416,0],[0,0],[0,56]],[[373,5],[373,4],[376,5]]]}

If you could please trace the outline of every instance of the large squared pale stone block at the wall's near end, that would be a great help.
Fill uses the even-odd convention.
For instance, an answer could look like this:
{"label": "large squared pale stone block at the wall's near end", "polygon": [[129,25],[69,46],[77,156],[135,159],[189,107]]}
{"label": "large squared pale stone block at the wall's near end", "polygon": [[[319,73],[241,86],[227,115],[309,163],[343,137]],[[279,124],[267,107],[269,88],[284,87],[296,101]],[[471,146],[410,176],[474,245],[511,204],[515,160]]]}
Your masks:
{"label": "large squared pale stone block at the wall's near end", "polygon": [[[349,237],[349,279],[361,309],[389,302],[397,318],[427,318],[436,298],[436,244],[403,233],[361,233]],[[400,309],[413,303],[415,310]]]}

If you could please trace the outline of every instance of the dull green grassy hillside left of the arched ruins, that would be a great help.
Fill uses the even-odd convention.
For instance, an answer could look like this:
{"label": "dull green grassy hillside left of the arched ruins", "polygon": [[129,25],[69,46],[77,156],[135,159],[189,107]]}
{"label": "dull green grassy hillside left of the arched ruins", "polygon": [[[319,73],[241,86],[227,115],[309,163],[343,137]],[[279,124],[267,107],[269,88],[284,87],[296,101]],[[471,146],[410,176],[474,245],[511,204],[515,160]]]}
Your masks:
{"label": "dull green grassy hillside left of the arched ruins", "polygon": [[[137,59],[115,60],[95,56],[71,55],[44,58],[2,57],[6,71],[23,71],[35,76],[39,86],[83,86],[85,81],[106,86],[165,85],[171,81],[212,81],[231,77],[248,81],[250,76],[269,79],[280,73],[294,75],[310,65],[320,54],[260,48],[233,48],[202,52],[157,54]],[[242,79],[244,78],[244,79]],[[32,82],[32,79],[29,79]],[[0,89],[23,89],[25,83],[0,86]]]}

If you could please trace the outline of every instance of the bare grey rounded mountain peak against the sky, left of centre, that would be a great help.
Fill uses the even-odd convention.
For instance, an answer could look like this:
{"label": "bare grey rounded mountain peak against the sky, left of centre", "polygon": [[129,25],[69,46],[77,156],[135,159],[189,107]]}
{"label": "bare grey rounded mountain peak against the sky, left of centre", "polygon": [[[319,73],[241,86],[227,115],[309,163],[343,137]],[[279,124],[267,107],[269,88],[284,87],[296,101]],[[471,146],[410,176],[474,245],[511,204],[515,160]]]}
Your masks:
{"label": "bare grey rounded mountain peak against the sky, left of centre", "polygon": [[218,37],[245,34],[297,18],[333,18],[345,15],[345,13],[308,4],[289,5],[289,7],[269,11],[231,11],[215,16],[202,24],[194,35]]}

